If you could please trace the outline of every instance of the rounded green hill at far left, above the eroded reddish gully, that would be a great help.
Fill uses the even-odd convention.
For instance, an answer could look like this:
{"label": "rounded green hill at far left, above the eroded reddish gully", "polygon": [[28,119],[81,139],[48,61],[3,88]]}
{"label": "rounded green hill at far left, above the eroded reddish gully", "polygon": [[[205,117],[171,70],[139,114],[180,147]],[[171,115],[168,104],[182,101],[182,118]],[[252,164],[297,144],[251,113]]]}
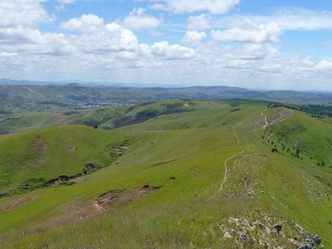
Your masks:
{"label": "rounded green hill at far left, above the eroded reddish gully", "polygon": [[[128,141],[127,141],[128,142]],[[101,168],[112,162],[112,147],[126,143],[118,133],[82,126],[38,129],[0,137],[0,193],[25,192],[59,176],[82,173],[90,163]]]}

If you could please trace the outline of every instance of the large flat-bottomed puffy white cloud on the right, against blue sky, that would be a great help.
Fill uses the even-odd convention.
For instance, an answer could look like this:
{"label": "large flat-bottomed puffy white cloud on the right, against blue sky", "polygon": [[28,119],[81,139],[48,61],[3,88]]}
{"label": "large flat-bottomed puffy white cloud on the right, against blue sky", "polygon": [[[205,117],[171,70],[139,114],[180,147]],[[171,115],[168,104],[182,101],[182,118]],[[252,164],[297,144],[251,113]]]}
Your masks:
{"label": "large flat-bottomed puffy white cloud on the right, against blue sky", "polygon": [[246,18],[241,23],[236,24],[232,29],[225,31],[212,30],[210,35],[213,39],[218,41],[259,44],[278,42],[278,36],[282,33],[283,31],[275,22],[270,22],[268,24],[256,24]]}

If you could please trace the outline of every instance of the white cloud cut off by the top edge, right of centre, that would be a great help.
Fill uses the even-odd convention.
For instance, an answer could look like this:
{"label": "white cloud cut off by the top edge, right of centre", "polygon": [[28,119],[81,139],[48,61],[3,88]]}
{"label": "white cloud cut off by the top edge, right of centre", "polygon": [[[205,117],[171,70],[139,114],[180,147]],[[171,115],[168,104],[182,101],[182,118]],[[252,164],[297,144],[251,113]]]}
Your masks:
{"label": "white cloud cut off by the top edge, right of centre", "polygon": [[[140,0],[143,1],[143,0]],[[193,13],[207,10],[211,14],[227,13],[234,5],[241,0],[148,0],[156,3],[150,6],[151,9],[165,10],[176,14]]]}

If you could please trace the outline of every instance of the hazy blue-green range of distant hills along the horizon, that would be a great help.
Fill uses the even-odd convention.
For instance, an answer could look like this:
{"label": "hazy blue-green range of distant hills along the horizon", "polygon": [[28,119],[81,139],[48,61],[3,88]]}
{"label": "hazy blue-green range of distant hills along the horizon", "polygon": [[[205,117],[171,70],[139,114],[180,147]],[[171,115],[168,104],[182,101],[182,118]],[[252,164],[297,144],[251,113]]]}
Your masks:
{"label": "hazy blue-green range of distant hills along the horizon", "polygon": [[[332,105],[332,93],[310,90],[250,90],[228,86],[193,86],[193,87],[130,87],[122,83],[114,85],[97,85],[97,83],[62,82],[32,82],[0,80],[0,98],[8,101],[56,101],[70,102],[98,102],[108,101],[116,103],[141,103],[160,101],[162,99],[228,99],[253,98],[281,103],[325,104]],[[148,84],[149,85],[149,84]]]}

